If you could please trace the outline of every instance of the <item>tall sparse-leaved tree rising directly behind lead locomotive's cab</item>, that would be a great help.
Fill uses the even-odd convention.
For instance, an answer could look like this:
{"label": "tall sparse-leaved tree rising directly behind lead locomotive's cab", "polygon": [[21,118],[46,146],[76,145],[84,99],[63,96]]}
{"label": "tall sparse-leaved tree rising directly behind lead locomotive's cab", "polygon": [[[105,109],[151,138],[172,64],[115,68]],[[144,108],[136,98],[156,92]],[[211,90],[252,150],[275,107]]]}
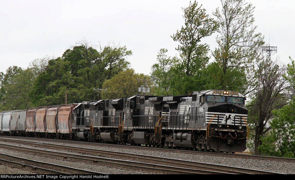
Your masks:
{"label": "tall sparse-leaved tree rising directly behind lead locomotive's cab", "polygon": [[[244,76],[246,70],[253,66],[255,55],[264,44],[263,37],[260,33],[255,34],[257,26],[251,27],[254,22],[252,4],[245,3],[245,0],[221,0],[221,4],[221,10],[217,8],[213,13],[220,25],[216,38],[218,47],[213,52],[223,72],[219,74],[223,80],[220,81],[220,89],[230,89],[234,83],[232,79],[241,77],[240,81],[245,86],[240,87],[239,91],[247,94],[254,85],[251,80],[245,81]],[[229,70],[231,72],[227,73]],[[236,76],[241,73],[244,75]]]}

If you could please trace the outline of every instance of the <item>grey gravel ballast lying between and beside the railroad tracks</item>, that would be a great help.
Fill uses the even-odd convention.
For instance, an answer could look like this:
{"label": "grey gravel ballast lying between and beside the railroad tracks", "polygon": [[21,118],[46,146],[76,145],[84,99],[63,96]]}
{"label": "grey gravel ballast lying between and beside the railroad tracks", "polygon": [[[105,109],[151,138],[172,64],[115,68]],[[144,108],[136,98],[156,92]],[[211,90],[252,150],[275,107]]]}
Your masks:
{"label": "grey gravel ballast lying between and beside the railroad tracks", "polygon": [[[16,138],[12,138],[16,139]],[[30,140],[34,142],[42,142],[42,140]],[[0,143],[4,143],[3,141],[0,141]],[[8,143],[6,144],[13,144],[14,143]],[[49,143],[49,142],[47,142]],[[241,167],[241,168],[247,168],[247,169],[257,169],[262,171],[272,171],[272,172],[278,172],[283,174],[295,174],[295,163],[294,162],[285,162],[285,161],[273,161],[273,160],[261,160],[261,159],[249,159],[249,158],[233,158],[233,157],[224,157],[224,156],[211,156],[207,154],[189,154],[189,153],[176,153],[176,152],[162,152],[157,149],[151,150],[139,150],[139,149],[130,149],[130,148],[120,148],[120,147],[107,147],[107,146],[99,146],[99,145],[78,145],[78,144],[71,144],[69,142],[52,142],[55,144],[60,145],[68,145],[68,146],[77,146],[77,147],[83,147],[83,148],[92,148],[92,149],[101,149],[101,150],[107,150],[107,151],[118,151],[118,152],[126,152],[126,153],[134,153],[134,154],[143,154],[143,155],[149,155],[149,156],[160,156],[160,157],[166,157],[166,158],[174,158],[174,159],[183,159],[187,161],[196,161],[196,162],[204,162],[204,163],[210,163],[210,164],[220,164],[220,165],[227,165],[227,166],[235,166],[235,167]],[[32,146],[26,146],[26,145],[18,145],[18,146],[24,146],[24,147],[32,147]],[[46,148],[40,148],[38,149],[46,149]],[[47,149],[48,150],[48,149]],[[52,151],[52,150],[50,150]],[[55,150],[59,152],[68,152],[68,151],[60,151]],[[106,174],[149,174],[150,172],[147,171],[138,171],[138,170],[132,170],[132,169],[120,169],[113,166],[105,166],[105,165],[93,165],[93,164],[87,164],[85,162],[75,162],[75,161],[65,161],[65,160],[59,160],[57,158],[52,159],[48,157],[42,157],[40,155],[32,155],[28,153],[21,153],[20,151],[11,151],[7,149],[1,148],[1,153],[9,154],[9,155],[15,155],[23,158],[30,158],[32,160],[42,161],[42,162],[51,162],[54,164],[61,164],[66,165],[70,167],[75,167],[79,169],[86,169],[89,171],[97,171],[101,173]],[[73,153],[73,152],[71,152]],[[27,171],[24,169],[19,169],[19,172],[17,171],[18,168],[12,168],[10,171],[6,172],[6,169],[8,165],[5,165],[6,169],[3,169],[4,165],[0,165],[0,173],[1,174],[32,174],[32,172]],[[2,168],[3,167],[3,168]],[[8,168],[9,169],[9,168]]]}

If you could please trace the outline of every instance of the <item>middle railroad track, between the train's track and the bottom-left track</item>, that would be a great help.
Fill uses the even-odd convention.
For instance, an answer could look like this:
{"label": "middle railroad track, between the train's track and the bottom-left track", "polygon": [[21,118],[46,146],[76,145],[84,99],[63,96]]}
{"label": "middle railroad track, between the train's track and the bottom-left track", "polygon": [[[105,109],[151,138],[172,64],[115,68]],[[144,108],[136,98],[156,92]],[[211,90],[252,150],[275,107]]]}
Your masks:
{"label": "middle railroad track, between the train's track and the bottom-left track", "polygon": [[[8,148],[8,149],[13,149],[17,151],[26,151],[28,153],[40,153],[43,155],[46,154],[48,156],[59,156],[61,158],[74,159],[79,161],[89,161],[92,163],[108,164],[112,166],[121,166],[121,167],[127,166],[127,167],[131,167],[132,169],[162,172],[162,173],[164,172],[169,174],[175,174],[175,173],[176,174],[195,174],[195,173],[196,174],[279,174],[279,173],[273,173],[268,171],[258,171],[253,169],[237,168],[232,166],[222,166],[222,165],[216,165],[216,164],[199,163],[194,161],[184,161],[184,160],[171,159],[171,158],[162,158],[162,157],[146,156],[146,155],[139,155],[139,154],[113,152],[113,151],[106,151],[106,150],[79,148],[79,147],[56,145],[56,144],[50,144],[50,143],[36,143],[36,142],[17,141],[17,140],[9,140],[9,139],[5,139],[5,140],[0,139],[0,140],[6,141],[6,142],[12,142],[12,143],[22,143],[22,144],[27,144],[31,146],[40,146],[45,148],[65,149],[68,151],[78,151],[78,152],[91,153],[96,155],[99,154],[102,156],[133,159],[133,160],[142,161],[142,162],[106,159],[106,158],[99,158],[99,157],[93,157],[93,156],[69,154],[69,153],[54,152],[54,154],[52,154],[53,153],[52,151],[0,144],[2,148]],[[147,162],[147,163],[143,163],[143,162]]]}

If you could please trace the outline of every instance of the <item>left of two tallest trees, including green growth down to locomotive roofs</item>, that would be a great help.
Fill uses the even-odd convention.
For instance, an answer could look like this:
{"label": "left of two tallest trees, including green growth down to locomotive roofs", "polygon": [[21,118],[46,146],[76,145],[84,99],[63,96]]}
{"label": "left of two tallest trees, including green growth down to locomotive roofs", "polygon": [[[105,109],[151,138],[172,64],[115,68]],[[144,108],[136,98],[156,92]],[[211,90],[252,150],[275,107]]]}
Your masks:
{"label": "left of two tallest trees, including green growth down to locomotive roofs", "polygon": [[187,94],[196,90],[197,81],[194,75],[205,68],[209,61],[209,45],[201,43],[201,40],[214,33],[219,26],[196,1],[190,2],[189,7],[182,10],[185,25],[171,36],[180,43],[176,50],[181,57],[174,68],[172,94]]}

